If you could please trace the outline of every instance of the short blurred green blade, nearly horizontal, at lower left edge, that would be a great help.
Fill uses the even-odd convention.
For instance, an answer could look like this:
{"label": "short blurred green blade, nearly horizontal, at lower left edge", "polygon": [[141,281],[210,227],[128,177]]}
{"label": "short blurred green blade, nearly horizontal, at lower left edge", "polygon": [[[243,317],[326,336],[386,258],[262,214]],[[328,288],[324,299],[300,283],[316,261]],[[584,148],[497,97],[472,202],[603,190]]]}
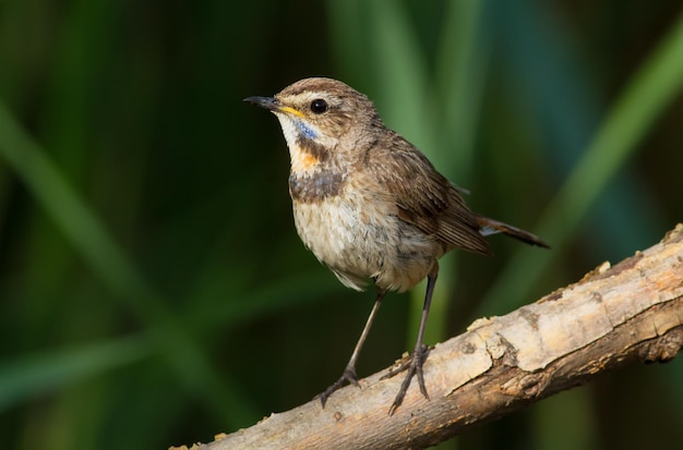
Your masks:
{"label": "short blurred green blade, nearly horizontal, at lower left edge", "polygon": [[140,361],[149,351],[148,340],[136,336],[16,361],[5,360],[0,366],[0,412]]}

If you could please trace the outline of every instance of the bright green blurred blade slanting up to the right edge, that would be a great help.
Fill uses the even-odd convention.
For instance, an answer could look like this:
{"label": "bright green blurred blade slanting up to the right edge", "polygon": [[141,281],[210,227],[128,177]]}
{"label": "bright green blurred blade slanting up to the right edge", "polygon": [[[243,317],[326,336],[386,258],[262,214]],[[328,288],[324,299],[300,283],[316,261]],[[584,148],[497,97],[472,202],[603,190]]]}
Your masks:
{"label": "bright green blurred blade slanting up to the right edge", "polygon": [[[529,295],[612,181],[657,117],[683,87],[683,15],[624,89],[578,163],[567,177],[534,231],[553,250],[532,257],[519,250],[490,289],[479,313],[505,299],[507,307]],[[635,248],[634,248],[635,251]]]}

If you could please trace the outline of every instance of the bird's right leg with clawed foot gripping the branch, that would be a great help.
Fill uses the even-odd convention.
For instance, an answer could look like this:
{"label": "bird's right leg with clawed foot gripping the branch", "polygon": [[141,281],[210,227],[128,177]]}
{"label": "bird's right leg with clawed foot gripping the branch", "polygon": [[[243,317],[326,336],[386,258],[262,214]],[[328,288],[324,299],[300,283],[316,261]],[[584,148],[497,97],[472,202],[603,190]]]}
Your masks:
{"label": "bird's right leg with clawed foot gripping the branch", "polygon": [[415,342],[415,349],[410,354],[409,358],[403,363],[398,368],[390,370],[382,378],[390,378],[394,375],[407,370],[406,378],[404,378],[404,382],[400,385],[400,389],[398,389],[398,393],[394,399],[394,403],[392,403],[392,408],[388,410],[388,414],[393,415],[398,406],[404,401],[406,397],[406,392],[408,392],[408,388],[410,387],[410,381],[414,376],[418,376],[418,385],[420,386],[420,392],[427,400],[429,400],[429,393],[427,393],[427,388],[424,387],[424,375],[422,374],[422,364],[424,364],[424,360],[427,360],[427,355],[429,354],[429,348],[424,345],[422,342],[424,338],[424,328],[427,327],[427,317],[429,315],[429,308],[432,303],[432,293],[434,292],[434,284],[436,284],[436,276],[439,275],[439,266],[434,266],[431,273],[427,277],[427,293],[424,294],[424,305],[422,306],[422,316],[420,317],[420,328],[418,330],[418,339]]}

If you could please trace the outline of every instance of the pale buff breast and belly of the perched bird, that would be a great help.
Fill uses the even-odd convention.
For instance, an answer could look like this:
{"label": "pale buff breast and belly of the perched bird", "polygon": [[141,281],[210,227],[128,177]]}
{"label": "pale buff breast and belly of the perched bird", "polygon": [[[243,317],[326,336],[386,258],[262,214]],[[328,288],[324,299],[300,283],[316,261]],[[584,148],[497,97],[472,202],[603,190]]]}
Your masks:
{"label": "pale buff breast and belly of the perched bird", "polygon": [[427,276],[443,250],[400,220],[394,202],[370,184],[334,173],[291,177],[297,232],[345,285],[361,290],[373,279],[382,289],[405,291]]}

